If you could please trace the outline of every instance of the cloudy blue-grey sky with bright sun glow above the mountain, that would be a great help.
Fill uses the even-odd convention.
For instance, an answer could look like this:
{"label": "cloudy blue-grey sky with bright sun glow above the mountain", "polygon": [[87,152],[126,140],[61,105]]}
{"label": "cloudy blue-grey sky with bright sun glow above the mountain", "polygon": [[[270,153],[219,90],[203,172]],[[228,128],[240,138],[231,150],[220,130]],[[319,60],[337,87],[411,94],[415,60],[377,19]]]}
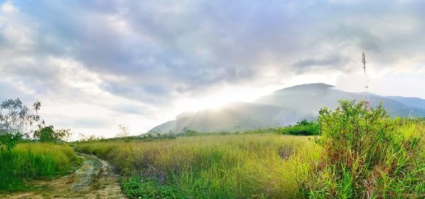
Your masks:
{"label": "cloudy blue-grey sky with bright sun glow above the mountain", "polygon": [[1,1],[0,101],[139,135],[184,111],[323,82],[425,98],[425,1]]}

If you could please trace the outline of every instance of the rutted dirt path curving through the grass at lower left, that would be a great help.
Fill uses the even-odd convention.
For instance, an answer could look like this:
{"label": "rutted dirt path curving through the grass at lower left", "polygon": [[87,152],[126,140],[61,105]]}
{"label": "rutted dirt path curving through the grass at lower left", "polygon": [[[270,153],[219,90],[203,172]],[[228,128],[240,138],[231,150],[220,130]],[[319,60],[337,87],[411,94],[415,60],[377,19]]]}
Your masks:
{"label": "rutted dirt path curving through the grass at lower left", "polygon": [[38,190],[0,194],[0,198],[125,198],[108,162],[86,154],[79,157],[84,163],[74,174],[52,181],[36,181],[34,186]]}

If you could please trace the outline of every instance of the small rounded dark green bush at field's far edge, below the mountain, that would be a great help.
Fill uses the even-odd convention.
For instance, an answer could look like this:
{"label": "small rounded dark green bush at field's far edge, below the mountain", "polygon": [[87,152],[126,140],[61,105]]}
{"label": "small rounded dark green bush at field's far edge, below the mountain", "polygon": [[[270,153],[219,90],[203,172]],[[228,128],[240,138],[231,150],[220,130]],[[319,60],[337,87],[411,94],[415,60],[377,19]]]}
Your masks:
{"label": "small rounded dark green bush at field's far edge, below the mountain", "polygon": [[276,132],[283,135],[320,135],[319,125],[307,120],[301,120],[293,126],[278,127]]}

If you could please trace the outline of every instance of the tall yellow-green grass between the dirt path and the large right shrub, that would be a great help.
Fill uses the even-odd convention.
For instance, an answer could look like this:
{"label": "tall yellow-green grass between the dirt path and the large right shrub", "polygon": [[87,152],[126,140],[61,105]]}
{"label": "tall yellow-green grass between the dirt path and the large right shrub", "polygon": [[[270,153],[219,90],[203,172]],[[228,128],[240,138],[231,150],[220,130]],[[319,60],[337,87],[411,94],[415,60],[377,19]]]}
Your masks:
{"label": "tall yellow-green grass between the dirt path and the large right shrub", "polygon": [[157,179],[186,198],[297,198],[295,161],[317,161],[320,150],[309,137],[225,135],[85,142],[77,151],[107,159],[127,176]]}

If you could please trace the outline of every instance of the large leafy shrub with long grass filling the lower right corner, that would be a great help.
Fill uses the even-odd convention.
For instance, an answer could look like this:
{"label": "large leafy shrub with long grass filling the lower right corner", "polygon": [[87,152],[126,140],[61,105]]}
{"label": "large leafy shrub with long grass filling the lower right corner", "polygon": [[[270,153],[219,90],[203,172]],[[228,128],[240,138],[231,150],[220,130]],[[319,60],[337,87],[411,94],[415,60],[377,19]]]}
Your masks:
{"label": "large leafy shrub with long grass filling the lower right corner", "polygon": [[[309,198],[423,198],[424,129],[391,120],[382,105],[340,101],[319,111],[324,159],[299,178]],[[416,130],[419,130],[416,132]],[[409,136],[407,136],[409,134]]]}

